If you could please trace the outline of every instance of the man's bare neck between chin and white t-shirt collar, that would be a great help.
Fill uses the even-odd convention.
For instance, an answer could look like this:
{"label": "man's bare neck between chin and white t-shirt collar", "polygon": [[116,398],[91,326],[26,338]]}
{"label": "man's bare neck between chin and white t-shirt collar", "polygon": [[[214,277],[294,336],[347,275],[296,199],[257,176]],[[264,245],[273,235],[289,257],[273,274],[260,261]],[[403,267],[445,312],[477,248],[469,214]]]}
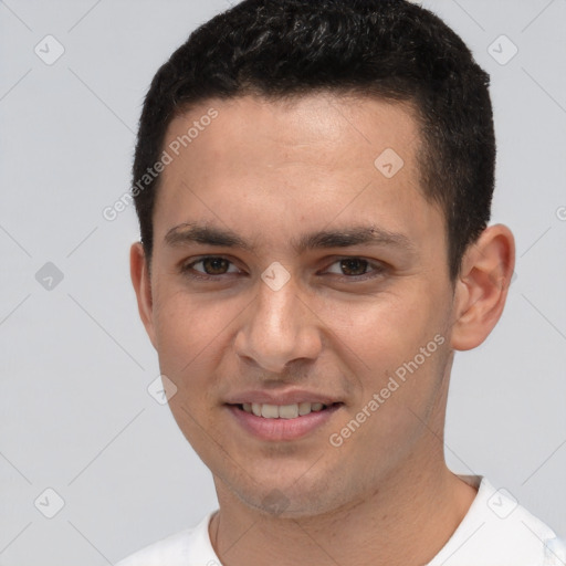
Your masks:
{"label": "man's bare neck between chin and white t-shirt collar", "polygon": [[209,530],[214,551],[224,566],[426,564],[461,523],[476,491],[443,459],[438,467],[405,470],[348,506],[298,518],[250,507],[216,478],[220,511]]}

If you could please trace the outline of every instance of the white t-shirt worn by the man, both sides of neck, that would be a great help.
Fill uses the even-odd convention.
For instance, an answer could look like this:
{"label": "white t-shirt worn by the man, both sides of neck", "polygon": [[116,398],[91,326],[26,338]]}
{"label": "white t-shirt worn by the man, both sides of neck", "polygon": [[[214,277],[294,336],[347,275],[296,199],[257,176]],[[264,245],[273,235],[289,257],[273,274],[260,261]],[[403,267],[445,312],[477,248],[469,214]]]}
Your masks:
{"label": "white t-shirt worn by the man, both sides of neck", "polygon": [[[460,475],[478,488],[468,513],[427,566],[564,566],[566,544],[505,490],[481,475]],[[116,566],[221,566],[208,532],[214,512],[196,527],[146,546]]]}

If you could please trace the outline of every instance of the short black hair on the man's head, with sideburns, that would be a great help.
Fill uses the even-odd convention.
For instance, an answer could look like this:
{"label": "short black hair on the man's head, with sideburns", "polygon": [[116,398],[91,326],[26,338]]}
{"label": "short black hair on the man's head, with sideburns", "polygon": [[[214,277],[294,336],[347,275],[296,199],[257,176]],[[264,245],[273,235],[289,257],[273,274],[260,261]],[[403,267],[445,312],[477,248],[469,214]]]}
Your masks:
{"label": "short black hair on the man's head, with sideburns", "polygon": [[243,0],[192,32],[159,69],[145,98],[133,196],[148,262],[160,177],[146,172],[159,160],[176,116],[212,98],[329,92],[415,108],[420,188],[443,211],[454,281],[463,253],[491,216],[495,136],[489,83],[460,36],[409,1]]}

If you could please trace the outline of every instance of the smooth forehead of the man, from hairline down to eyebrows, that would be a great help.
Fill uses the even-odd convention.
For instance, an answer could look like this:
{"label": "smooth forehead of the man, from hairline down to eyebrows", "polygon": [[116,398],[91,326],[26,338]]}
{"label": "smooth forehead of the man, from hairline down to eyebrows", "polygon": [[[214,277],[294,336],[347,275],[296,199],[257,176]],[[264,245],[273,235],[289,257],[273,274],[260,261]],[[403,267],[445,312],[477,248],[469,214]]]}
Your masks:
{"label": "smooth forehead of the man, from hairline down to eyebrows", "polygon": [[349,216],[399,231],[407,213],[430,208],[419,144],[408,104],[329,94],[206,101],[168,127],[156,239],[195,219],[240,231],[264,220],[290,235],[296,223]]}

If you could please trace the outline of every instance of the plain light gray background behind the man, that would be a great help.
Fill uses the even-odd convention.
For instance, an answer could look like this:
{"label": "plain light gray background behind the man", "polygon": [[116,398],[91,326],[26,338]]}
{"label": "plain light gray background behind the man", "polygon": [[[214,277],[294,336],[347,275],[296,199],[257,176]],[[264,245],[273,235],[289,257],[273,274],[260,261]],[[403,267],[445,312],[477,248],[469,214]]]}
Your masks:
{"label": "plain light gray background behind the man", "polygon": [[[422,3],[492,76],[493,220],[517,242],[501,323],[457,355],[448,461],[488,475],[566,536],[566,1]],[[228,7],[0,1],[4,566],[113,564],[216,507],[210,473],[147,391],[159,370],[129,281],[134,210],[113,222],[102,210],[128,190],[153,74]],[[48,34],[65,50],[52,65],[34,52],[56,54]],[[506,64],[513,48],[502,34],[518,49]],[[53,518],[48,488],[65,502]]]}

